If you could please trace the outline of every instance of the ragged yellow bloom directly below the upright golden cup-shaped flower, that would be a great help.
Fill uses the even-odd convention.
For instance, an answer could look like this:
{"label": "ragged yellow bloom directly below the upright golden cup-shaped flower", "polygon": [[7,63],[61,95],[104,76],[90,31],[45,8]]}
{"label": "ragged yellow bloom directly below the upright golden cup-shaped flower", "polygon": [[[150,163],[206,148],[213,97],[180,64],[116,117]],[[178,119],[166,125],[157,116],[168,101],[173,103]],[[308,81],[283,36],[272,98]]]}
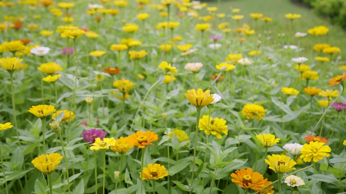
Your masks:
{"label": "ragged yellow bloom directly below the upright golden cup-shaped flower", "polygon": [[[208,130],[208,120],[209,120],[209,130]],[[204,130],[204,133],[209,135],[212,134],[216,136],[218,139],[222,139],[220,133],[228,135],[228,129],[226,125],[226,120],[222,118],[212,118],[208,115],[203,115],[203,117],[199,120],[198,128],[199,130]]]}

